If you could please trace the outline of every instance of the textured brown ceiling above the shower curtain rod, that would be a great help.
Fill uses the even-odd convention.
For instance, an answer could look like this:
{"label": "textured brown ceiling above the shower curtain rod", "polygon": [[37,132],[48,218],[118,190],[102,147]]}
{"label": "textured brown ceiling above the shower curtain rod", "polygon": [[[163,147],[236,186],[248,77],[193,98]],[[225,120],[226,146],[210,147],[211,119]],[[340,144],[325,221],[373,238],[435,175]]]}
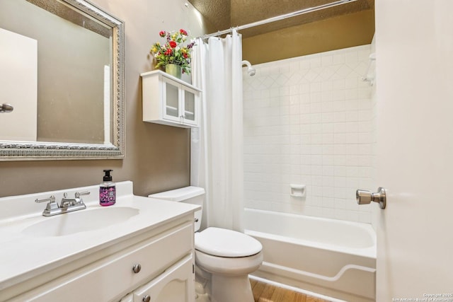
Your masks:
{"label": "textured brown ceiling above the shower curtain rod", "polygon": [[[336,0],[188,0],[207,18],[216,30],[225,30],[234,26],[245,25],[267,18],[292,13],[304,8],[328,4]],[[326,8],[301,16],[287,18],[241,30],[243,37],[253,37],[282,28],[290,28],[326,18],[343,16],[348,13],[374,10],[374,0],[357,0],[347,4]]]}

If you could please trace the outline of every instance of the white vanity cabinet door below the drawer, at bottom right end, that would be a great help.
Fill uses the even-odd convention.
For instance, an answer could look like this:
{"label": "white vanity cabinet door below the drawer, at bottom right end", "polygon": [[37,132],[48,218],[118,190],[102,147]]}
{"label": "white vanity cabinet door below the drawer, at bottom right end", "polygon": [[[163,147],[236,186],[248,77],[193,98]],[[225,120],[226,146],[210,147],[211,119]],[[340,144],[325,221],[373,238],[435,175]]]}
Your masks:
{"label": "white vanity cabinet door below the drawer, at bottom right end", "polygon": [[190,254],[159,277],[134,291],[134,302],[195,302],[195,274]]}

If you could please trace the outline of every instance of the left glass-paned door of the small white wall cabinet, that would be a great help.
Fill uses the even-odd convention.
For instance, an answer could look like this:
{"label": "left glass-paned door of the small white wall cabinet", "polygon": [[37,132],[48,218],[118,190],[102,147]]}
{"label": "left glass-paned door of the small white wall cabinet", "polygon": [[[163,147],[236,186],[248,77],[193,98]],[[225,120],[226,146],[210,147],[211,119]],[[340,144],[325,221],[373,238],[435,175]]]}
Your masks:
{"label": "left glass-paned door of the small white wall cabinet", "polygon": [[180,86],[163,77],[162,97],[162,117],[166,120],[181,122],[183,112],[181,110]]}

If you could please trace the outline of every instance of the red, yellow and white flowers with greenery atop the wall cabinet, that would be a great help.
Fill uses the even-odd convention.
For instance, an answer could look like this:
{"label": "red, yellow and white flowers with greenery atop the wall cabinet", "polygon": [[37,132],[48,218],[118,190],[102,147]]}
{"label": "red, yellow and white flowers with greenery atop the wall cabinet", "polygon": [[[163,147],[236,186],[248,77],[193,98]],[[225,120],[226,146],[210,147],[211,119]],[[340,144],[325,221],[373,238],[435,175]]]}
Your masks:
{"label": "red, yellow and white flowers with greenery atop the wall cabinet", "polygon": [[188,38],[187,31],[183,29],[176,32],[161,30],[159,35],[165,37],[166,42],[164,45],[156,42],[151,47],[150,53],[156,59],[156,68],[167,64],[176,64],[181,66],[183,72],[190,74],[190,52],[195,42],[190,42],[186,46],[183,45]]}

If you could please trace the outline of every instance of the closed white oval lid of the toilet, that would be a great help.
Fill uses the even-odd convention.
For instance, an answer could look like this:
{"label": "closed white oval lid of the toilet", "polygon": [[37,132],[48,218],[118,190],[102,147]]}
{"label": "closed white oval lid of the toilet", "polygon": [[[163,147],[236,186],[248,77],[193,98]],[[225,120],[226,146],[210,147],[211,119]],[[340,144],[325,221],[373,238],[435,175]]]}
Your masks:
{"label": "closed white oval lid of the toilet", "polygon": [[195,249],[219,257],[246,257],[258,254],[261,243],[244,233],[225,228],[206,228],[195,233]]}

